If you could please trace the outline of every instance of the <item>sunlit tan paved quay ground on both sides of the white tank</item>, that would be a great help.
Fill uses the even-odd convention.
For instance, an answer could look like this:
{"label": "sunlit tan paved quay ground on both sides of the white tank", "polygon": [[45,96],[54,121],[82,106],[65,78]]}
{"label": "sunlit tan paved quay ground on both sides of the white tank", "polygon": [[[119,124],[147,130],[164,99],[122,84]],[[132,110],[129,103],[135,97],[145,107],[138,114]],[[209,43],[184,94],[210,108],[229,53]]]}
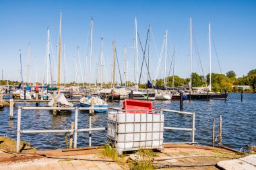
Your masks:
{"label": "sunlit tan paved quay ground on both sides of the white tank", "polygon": [[[129,155],[119,161],[113,161],[103,153],[104,148],[83,148],[79,151],[22,151],[22,154],[33,153],[44,157],[28,157],[15,160],[17,157],[0,153],[1,157],[9,155],[9,159],[0,162],[1,169],[130,169]],[[152,165],[159,169],[218,169],[217,163],[241,157],[222,148],[199,145],[165,144],[162,153],[155,153]],[[18,156],[18,155],[17,155]],[[25,157],[25,155],[23,156]]]}

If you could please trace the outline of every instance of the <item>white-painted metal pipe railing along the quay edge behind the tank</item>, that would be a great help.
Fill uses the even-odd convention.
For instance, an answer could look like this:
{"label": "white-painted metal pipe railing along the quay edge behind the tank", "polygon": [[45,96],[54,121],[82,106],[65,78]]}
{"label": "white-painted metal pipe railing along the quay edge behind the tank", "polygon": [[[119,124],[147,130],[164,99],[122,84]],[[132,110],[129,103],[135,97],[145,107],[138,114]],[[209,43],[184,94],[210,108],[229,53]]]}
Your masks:
{"label": "white-painted metal pipe railing along the quay edge behind the tank", "polygon": [[[75,110],[75,123],[74,123],[74,129],[67,129],[67,130],[21,130],[21,116],[22,116],[22,110]],[[84,128],[84,129],[78,129],[77,124],[78,124],[78,110],[89,110],[89,128]],[[92,110],[117,110],[118,112],[123,112],[123,111],[140,111],[140,112],[146,112],[146,113],[154,113],[154,112],[171,112],[171,113],[177,113],[177,114],[187,114],[192,116],[192,128],[177,128],[177,127],[164,127],[164,130],[185,130],[185,131],[191,131],[192,135],[192,142],[168,142],[168,144],[194,144],[195,142],[195,112],[180,112],[176,110],[122,110],[121,108],[58,108],[58,107],[21,107],[18,106],[18,120],[17,120],[17,139],[16,139],[16,151],[20,152],[20,134],[21,133],[26,133],[26,134],[32,134],[32,133],[60,133],[60,132],[73,132],[74,133],[74,148],[77,148],[77,132],[89,132],[89,146],[92,146],[92,131],[98,131],[98,130],[106,130],[106,127],[98,127],[98,128],[92,128]],[[154,118],[154,116],[153,116]],[[126,118],[125,118],[126,119]],[[148,120],[148,117],[147,117]],[[113,120],[111,120],[113,121]],[[125,120],[126,121],[126,120]],[[115,122],[115,121],[113,121]],[[135,121],[134,121],[135,122]],[[133,123],[134,123],[133,122]],[[147,121],[146,121],[147,122]],[[129,123],[129,122],[126,122]],[[135,122],[137,123],[137,122]],[[141,123],[141,122],[138,122]],[[150,122],[148,122],[150,123]],[[160,123],[162,123],[160,121]],[[121,123],[122,124],[122,123]],[[146,124],[147,127],[147,124]],[[126,128],[126,126],[125,126]],[[134,128],[134,127],[133,127]],[[126,132],[126,129],[125,129]],[[125,132],[122,132],[123,134],[127,134]],[[153,132],[162,132],[162,131],[154,131],[153,126],[152,126],[152,135]],[[117,133],[120,133],[117,131]],[[135,132],[135,133],[142,133],[140,132]],[[147,132],[148,134],[148,132]],[[133,135],[134,137],[134,135]],[[126,138],[126,135],[125,135]],[[134,140],[134,139],[133,139]],[[162,140],[162,139],[160,139]],[[160,142],[159,140],[159,142]],[[141,142],[146,142],[145,140],[139,140]],[[135,142],[139,142],[135,141]],[[148,140],[147,140],[148,141]],[[166,142],[165,142],[166,144]]]}

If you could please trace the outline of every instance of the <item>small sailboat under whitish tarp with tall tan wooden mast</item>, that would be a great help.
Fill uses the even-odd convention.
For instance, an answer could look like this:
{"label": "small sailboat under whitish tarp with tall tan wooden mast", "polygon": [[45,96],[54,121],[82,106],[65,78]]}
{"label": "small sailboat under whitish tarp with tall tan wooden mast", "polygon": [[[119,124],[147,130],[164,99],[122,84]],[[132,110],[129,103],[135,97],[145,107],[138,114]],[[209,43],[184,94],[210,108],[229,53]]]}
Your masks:
{"label": "small sailboat under whitish tarp with tall tan wooden mast", "polygon": [[[54,96],[53,99],[48,103],[50,107],[69,108],[73,107],[73,103],[67,101],[65,95],[60,93],[60,79],[61,79],[61,15],[59,22],[59,65],[58,65],[58,95]],[[55,93],[55,92],[53,92]],[[67,112],[67,110],[57,110],[58,113]]]}

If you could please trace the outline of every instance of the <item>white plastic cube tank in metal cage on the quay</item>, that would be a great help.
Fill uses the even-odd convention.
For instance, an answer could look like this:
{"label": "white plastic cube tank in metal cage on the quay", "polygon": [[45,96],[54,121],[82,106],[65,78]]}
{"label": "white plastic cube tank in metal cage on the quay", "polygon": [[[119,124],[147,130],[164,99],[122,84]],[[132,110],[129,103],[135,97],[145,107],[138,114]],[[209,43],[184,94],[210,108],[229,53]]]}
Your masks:
{"label": "white plastic cube tank in metal cage on the quay", "polygon": [[161,112],[132,114],[108,112],[108,140],[117,151],[140,148],[162,148],[164,114]]}

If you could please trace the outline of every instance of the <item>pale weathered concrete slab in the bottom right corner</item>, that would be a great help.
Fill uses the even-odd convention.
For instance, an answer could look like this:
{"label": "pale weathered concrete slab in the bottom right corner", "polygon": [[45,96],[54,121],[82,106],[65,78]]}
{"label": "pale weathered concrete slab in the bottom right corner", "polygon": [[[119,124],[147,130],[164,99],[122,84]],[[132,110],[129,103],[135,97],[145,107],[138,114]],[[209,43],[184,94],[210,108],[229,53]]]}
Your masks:
{"label": "pale weathered concrete slab in the bottom right corner", "polygon": [[256,155],[249,155],[244,158],[230,161],[220,161],[217,163],[217,165],[218,167],[227,170],[256,170]]}

